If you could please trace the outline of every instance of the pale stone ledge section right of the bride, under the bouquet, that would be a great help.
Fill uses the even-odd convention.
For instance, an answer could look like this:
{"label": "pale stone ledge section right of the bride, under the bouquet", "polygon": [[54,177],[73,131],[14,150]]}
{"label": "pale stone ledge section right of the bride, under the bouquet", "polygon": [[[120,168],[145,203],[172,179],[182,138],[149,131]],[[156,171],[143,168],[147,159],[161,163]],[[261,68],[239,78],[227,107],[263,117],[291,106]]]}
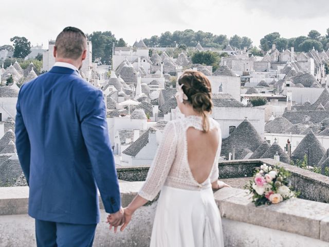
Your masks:
{"label": "pale stone ledge section right of the bride, under the bouquet", "polygon": [[326,203],[293,198],[277,205],[255,207],[247,190],[235,188],[223,188],[214,196],[223,218],[329,242]]}

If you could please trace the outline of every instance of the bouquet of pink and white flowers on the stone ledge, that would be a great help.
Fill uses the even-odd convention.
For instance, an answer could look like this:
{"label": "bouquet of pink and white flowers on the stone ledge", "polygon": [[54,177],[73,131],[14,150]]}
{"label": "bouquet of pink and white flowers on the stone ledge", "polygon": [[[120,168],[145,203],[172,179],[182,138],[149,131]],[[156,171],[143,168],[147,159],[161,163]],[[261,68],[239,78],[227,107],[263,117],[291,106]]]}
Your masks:
{"label": "bouquet of pink and white flowers on the stone ledge", "polygon": [[245,186],[252,196],[252,202],[256,206],[263,204],[277,204],[292,197],[297,197],[290,187],[288,178],[290,173],[283,167],[271,167],[266,164],[261,165],[255,172],[253,180]]}

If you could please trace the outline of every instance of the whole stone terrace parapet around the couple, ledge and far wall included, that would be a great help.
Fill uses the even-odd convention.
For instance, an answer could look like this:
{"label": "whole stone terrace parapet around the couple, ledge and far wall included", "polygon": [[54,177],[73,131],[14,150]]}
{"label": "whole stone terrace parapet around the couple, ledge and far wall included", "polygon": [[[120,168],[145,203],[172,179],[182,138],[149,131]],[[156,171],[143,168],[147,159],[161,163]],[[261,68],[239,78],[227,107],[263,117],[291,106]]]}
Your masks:
{"label": "whole stone terrace parapet around the couple, ledge and far wall included", "polygon": [[[302,197],[313,201],[294,198],[278,205],[255,207],[241,187],[251,177],[251,168],[263,163],[276,164],[268,159],[219,164],[220,177],[226,177],[223,180],[235,187],[214,193],[222,215],[225,246],[329,246],[329,204],[324,203],[328,202],[329,178],[280,163],[291,172],[294,186],[310,190],[302,193]],[[143,183],[132,178],[144,179],[147,170],[147,167],[118,168],[119,178],[125,180],[120,182],[123,206]],[[0,246],[35,246],[34,221],[26,214],[27,201],[28,187],[0,188]],[[108,231],[106,213],[101,209],[94,246],[149,246],[156,204],[150,202],[136,211],[131,224],[117,234]]]}

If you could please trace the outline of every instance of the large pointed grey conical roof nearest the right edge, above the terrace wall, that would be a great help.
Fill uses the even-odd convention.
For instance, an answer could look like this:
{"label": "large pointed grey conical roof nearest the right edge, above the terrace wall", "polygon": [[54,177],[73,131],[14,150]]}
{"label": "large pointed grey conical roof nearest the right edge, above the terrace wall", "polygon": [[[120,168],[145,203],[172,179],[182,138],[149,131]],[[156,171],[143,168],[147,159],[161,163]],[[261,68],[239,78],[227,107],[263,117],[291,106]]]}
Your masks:
{"label": "large pointed grey conical roof nearest the right edge, above the terrace wall", "polygon": [[305,135],[294,150],[291,158],[293,158],[294,162],[296,162],[296,160],[301,161],[305,154],[309,154],[309,164],[311,166],[316,166],[320,162],[324,153],[325,149],[319,142],[318,138],[314,135],[312,129],[310,129],[308,134]]}

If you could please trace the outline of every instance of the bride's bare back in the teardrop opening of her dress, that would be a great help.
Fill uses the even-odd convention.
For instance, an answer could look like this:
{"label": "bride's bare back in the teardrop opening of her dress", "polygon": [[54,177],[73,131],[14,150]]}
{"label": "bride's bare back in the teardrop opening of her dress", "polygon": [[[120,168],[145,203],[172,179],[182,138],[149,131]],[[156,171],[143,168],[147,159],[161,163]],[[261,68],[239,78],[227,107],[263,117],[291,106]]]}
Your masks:
{"label": "bride's bare back in the teardrop opening of her dress", "polygon": [[209,178],[220,142],[216,128],[203,132],[193,127],[186,133],[188,163],[196,182],[203,183]]}

